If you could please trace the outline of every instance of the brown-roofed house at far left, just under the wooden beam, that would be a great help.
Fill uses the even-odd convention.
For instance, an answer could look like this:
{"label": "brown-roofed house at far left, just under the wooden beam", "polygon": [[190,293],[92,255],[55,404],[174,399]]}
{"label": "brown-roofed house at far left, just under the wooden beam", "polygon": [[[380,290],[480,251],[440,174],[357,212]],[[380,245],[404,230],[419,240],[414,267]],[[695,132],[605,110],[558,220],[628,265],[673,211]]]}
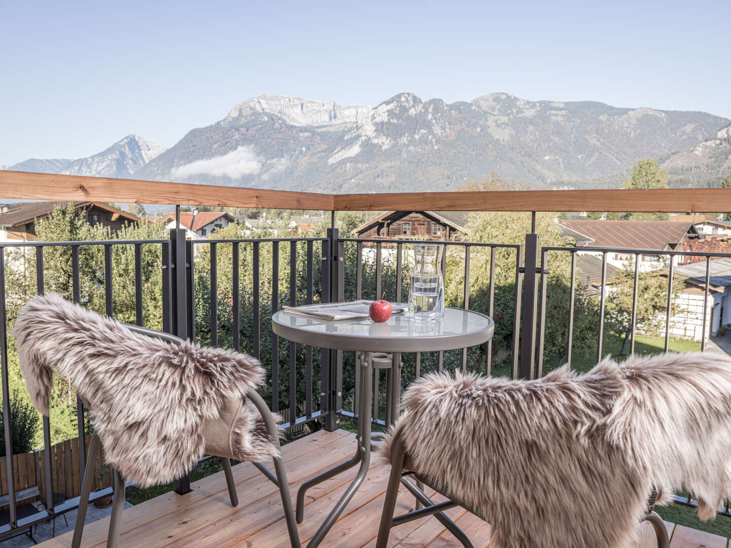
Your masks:
{"label": "brown-roofed house at far left, just under the wooden beam", "polygon": [[[140,218],[104,202],[69,202],[89,224],[102,224],[113,230]],[[67,202],[15,202],[0,205],[0,242],[36,240],[36,222],[53,213],[53,208]]]}

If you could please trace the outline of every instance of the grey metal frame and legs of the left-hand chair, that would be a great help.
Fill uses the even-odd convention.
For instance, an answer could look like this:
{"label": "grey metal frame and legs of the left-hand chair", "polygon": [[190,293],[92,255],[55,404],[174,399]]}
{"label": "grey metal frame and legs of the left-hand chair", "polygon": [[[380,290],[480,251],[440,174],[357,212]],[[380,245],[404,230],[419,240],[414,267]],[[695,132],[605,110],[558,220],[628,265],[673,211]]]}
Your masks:
{"label": "grey metal frame and legs of the left-hand chair", "polygon": [[[180,344],[185,342],[183,339],[163,333],[155,330],[147,329],[146,327],[139,327],[136,325],[124,324],[129,330],[140,333],[141,335],[148,335],[149,337],[166,340],[169,343]],[[267,433],[270,441],[280,449],[279,445],[279,427],[274,420],[267,404],[254,389],[249,389],[246,392],[246,398],[254,403],[254,406],[259,411],[262,419],[264,419]],[[89,443],[88,456],[86,458],[86,468],[84,471],[83,483],[81,487],[81,495],[79,498],[79,509],[76,517],[76,525],[74,528],[74,537],[71,543],[72,548],[79,548],[81,544],[81,538],[84,531],[84,521],[86,520],[86,509],[88,507],[89,495],[91,494],[91,485],[94,480],[94,465],[96,463],[96,456],[99,453],[99,436],[94,433],[91,436],[91,442]],[[233,473],[231,470],[231,460],[227,457],[221,457],[224,465],[224,476],[226,476],[226,484],[231,499],[231,506],[238,506],[238,494],[236,493],[236,484],[233,479]],[[281,503],[284,506],[284,520],[287,522],[287,531],[289,533],[289,543],[292,548],[300,548],[300,535],[297,530],[297,523],[295,522],[295,512],[292,509],[292,496],[289,493],[289,482],[287,482],[287,471],[284,469],[284,460],[281,454],[274,457],[274,473],[266,468],[261,463],[254,463],[266,477],[279,489],[281,496]],[[126,492],[126,483],[124,478],[117,470],[113,472],[114,476],[114,500],[112,504],[112,517],[109,524],[109,532],[107,533],[107,548],[118,548],[119,535],[122,522],[122,510],[124,509],[124,495]]]}

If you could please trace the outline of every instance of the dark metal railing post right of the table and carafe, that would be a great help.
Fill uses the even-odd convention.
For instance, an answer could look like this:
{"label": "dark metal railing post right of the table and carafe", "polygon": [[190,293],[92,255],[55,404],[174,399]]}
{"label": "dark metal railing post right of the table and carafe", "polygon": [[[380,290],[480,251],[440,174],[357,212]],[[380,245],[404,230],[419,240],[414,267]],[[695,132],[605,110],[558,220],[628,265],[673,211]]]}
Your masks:
{"label": "dark metal railing post right of the table and carafe", "polygon": [[[535,217],[535,213],[533,214]],[[535,230],[535,218],[531,223]],[[538,310],[537,275],[540,271],[538,251],[541,237],[536,232],[526,234],[525,259],[523,259],[523,316],[520,337],[520,378],[533,378],[536,357],[536,313]],[[520,311],[515,311],[516,314]]]}

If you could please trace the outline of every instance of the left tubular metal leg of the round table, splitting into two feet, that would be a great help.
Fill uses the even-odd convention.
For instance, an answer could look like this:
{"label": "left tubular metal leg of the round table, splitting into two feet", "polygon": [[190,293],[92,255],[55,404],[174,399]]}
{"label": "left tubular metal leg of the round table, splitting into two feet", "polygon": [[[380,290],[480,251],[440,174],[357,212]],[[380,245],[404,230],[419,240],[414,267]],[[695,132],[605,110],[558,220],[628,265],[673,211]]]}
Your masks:
{"label": "left tubular metal leg of the round table, splitting into two feet", "polygon": [[[341,496],[338,503],[336,503],[335,507],[330,511],[330,514],[327,514],[327,518],[325,518],[325,521],[322,522],[322,525],[319,526],[317,533],[315,533],[311,541],[309,541],[309,544],[307,544],[307,548],[315,548],[320,544],[320,542],[322,542],[322,539],[325,539],[325,535],[327,535],[327,532],[330,530],[330,528],[333,527],[336,520],[338,520],[338,517],[340,517],[340,514],[350,502],[350,499],[353,498],[353,495],[355,495],[355,492],[357,491],[358,487],[360,487],[360,484],[362,484],[363,480],[366,479],[368,466],[371,465],[371,398],[373,397],[373,363],[371,352],[364,352],[362,354],[360,359],[360,370],[358,371],[358,374],[360,375],[360,394],[358,401],[357,453],[347,463],[343,463],[343,465],[341,466],[344,466],[344,468],[341,468],[341,470],[339,471],[345,470],[346,468],[355,465],[355,463],[357,463],[357,460],[360,460],[360,468],[358,468],[355,479],[353,479],[353,481],[349,484],[343,496]],[[346,464],[347,466],[345,466]],[[335,470],[336,468],[338,467],[333,467],[325,473],[320,474],[319,476],[317,476],[317,478],[311,479],[309,483],[315,484],[323,482],[327,478],[333,477],[338,472],[332,474],[330,474],[330,472]],[[300,487],[300,491],[301,490],[302,487]],[[298,511],[301,507],[299,495],[300,493],[298,492]],[[304,492],[302,493],[302,497],[304,502]]]}

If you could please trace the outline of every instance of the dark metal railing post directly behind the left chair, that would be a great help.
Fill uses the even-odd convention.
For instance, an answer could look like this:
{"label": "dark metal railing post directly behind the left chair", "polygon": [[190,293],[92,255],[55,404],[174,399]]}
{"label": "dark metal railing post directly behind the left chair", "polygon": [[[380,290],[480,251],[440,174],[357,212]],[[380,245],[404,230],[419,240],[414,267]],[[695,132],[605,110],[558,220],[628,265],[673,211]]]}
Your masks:
{"label": "dark metal railing post directly behind the left chair", "polygon": [[[185,229],[170,229],[170,259],[167,262],[167,267],[170,269],[167,276],[170,280],[170,321],[167,322],[167,325],[170,327],[171,335],[183,339],[191,335],[188,325],[188,305],[193,302],[193,299],[190,298],[193,285],[188,283],[188,269],[192,261],[186,260],[186,254],[192,255],[192,248],[189,249],[189,247],[191,246],[186,244]],[[163,275],[164,278],[166,278],[165,275]],[[192,326],[190,327],[192,328]],[[191,491],[188,474],[175,480],[175,492],[178,495],[185,495]]]}

